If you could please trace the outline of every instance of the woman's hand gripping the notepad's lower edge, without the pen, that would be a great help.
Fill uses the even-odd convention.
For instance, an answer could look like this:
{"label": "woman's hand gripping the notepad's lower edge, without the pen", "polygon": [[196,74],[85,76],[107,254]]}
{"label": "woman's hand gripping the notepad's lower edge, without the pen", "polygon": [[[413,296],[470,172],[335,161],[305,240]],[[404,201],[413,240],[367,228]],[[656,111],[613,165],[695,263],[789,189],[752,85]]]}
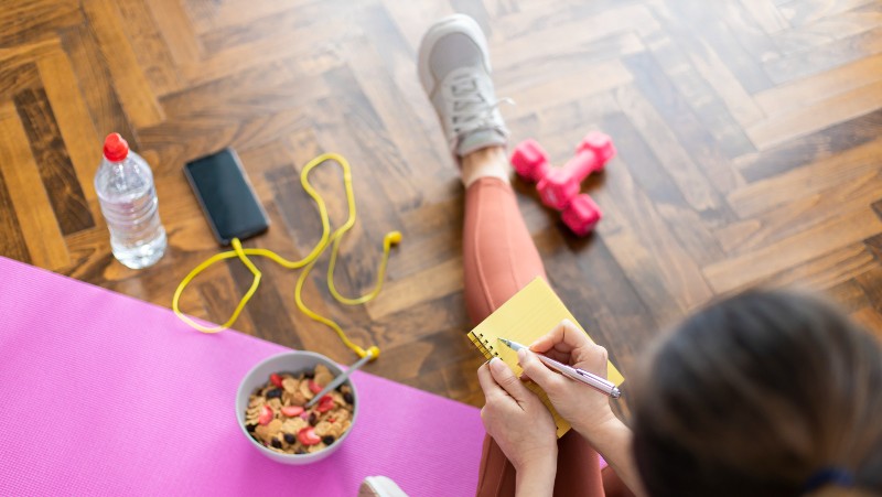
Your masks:
{"label": "woman's hand gripping the notepad's lower edge, without the pen", "polygon": [[[477,379],[486,398],[481,420],[515,466],[518,494],[527,493],[526,484],[550,494],[558,458],[557,428],[551,413],[498,358],[481,366]],[[521,480],[527,476],[529,482]]]}

